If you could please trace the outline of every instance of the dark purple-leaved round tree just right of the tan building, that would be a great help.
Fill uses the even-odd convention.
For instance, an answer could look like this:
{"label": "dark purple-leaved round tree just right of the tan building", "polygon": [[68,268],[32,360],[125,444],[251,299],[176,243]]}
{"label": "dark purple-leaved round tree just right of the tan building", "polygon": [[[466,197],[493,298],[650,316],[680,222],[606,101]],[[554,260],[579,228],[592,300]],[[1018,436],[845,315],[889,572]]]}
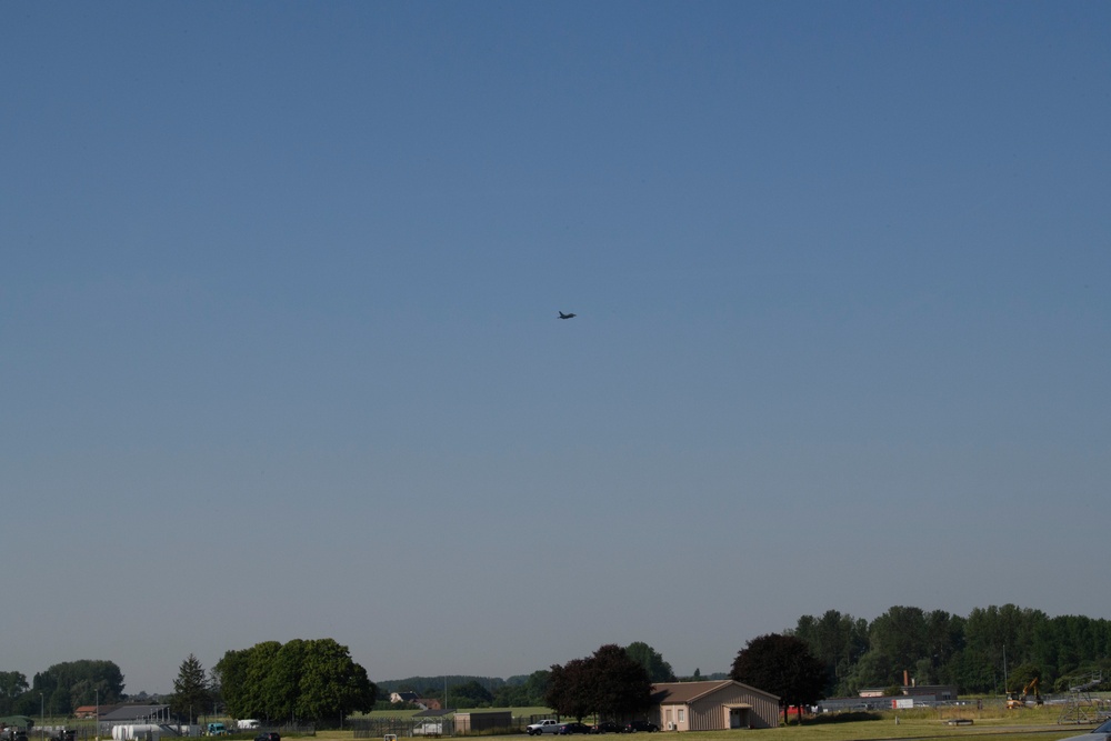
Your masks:
{"label": "dark purple-leaved round tree just right of the tan building", "polygon": [[[822,699],[825,667],[810,652],[805,641],[793,635],[770,633],[754,638],[737,653],[729,675],[764,692],[779,695],[787,722],[787,709],[801,710]],[[802,714],[799,714],[801,722]]]}

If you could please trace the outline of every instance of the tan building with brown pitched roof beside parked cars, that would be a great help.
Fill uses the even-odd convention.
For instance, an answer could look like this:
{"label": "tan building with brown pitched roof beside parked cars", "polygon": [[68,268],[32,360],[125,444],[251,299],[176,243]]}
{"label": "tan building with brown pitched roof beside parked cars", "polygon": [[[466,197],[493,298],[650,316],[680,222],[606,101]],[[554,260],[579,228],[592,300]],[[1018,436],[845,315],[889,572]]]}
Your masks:
{"label": "tan building with brown pitched roof beside parked cars", "polygon": [[778,697],[729,679],[653,684],[652,703],[669,731],[779,727]]}

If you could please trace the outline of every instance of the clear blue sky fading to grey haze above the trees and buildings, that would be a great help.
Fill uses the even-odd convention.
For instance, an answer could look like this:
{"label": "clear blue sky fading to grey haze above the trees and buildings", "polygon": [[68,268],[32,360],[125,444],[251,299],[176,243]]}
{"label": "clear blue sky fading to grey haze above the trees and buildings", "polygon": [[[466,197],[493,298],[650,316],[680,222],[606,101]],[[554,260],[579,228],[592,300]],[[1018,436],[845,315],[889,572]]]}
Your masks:
{"label": "clear blue sky fading to grey haze above the trees and buildings", "polygon": [[688,674],[829,609],[1111,618],[1109,34],[3,2],[0,670]]}

